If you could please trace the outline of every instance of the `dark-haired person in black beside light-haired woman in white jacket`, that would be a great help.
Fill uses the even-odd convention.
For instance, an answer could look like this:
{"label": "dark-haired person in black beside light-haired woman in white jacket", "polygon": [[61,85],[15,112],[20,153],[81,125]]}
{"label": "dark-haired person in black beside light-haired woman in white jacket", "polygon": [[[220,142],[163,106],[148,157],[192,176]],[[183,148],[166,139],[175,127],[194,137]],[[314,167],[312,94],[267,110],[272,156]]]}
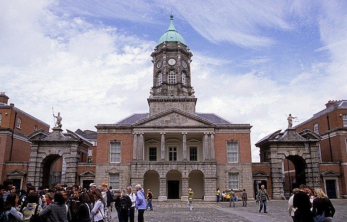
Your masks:
{"label": "dark-haired person in black beside light-haired woman in white jacket", "polygon": [[122,188],[120,195],[117,196],[115,207],[118,215],[119,222],[129,222],[129,213],[131,207],[131,199],[126,195],[126,190]]}

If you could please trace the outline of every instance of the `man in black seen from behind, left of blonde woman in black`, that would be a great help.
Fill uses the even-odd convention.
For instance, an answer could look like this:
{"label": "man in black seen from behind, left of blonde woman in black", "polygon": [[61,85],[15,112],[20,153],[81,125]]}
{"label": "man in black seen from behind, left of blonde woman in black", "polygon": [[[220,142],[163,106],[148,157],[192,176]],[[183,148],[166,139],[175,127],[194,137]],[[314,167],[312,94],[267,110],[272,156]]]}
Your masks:
{"label": "man in black seen from behind, left of blonde woman in black", "polygon": [[301,184],[300,191],[293,197],[293,207],[296,208],[294,218],[297,222],[313,222],[310,198],[306,194],[306,186]]}

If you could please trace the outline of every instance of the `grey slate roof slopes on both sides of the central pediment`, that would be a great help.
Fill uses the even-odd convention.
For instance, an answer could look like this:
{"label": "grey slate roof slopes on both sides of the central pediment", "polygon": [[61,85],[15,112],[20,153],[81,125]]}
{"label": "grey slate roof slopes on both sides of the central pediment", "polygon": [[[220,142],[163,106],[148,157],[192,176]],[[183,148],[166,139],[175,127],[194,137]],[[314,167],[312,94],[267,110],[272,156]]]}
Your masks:
{"label": "grey slate roof slopes on both sides of the central pediment", "polygon": [[[232,124],[232,122],[216,115],[215,113],[196,113],[197,116],[207,119],[216,125],[223,125],[223,124]],[[123,118],[122,120],[119,120],[115,124],[117,125],[131,125],[134,122],[137,122],[141,119],[144,119],[149,116],[149,113],[133,113],[129,115],[128,117]]]}

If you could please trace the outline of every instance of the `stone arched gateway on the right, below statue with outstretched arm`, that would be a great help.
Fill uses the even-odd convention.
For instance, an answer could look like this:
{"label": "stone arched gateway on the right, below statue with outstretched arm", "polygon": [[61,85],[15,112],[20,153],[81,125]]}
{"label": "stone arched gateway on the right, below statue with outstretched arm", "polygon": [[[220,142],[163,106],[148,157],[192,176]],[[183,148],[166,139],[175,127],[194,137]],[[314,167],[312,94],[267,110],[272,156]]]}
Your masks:
{"label": "stone arched gateway on the right, below statue with outstretched arm", "polygon": [[[317,142],[321,137],[311,130],[297,133],[294,128],[276,131],[255,145],[260,148],[260,162],[270,163],[274,199],[286,199],[300,184],[320,187]],[[289,161],[291,164],[289,164]],[[283,167],[293,165],[285,174]]]}

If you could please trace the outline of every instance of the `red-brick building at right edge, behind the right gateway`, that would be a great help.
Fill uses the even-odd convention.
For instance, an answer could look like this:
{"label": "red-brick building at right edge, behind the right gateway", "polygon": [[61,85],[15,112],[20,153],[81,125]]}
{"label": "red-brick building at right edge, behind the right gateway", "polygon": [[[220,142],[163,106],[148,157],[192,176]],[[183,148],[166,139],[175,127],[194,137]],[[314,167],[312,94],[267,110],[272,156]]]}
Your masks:
{"label": "red-brick building at right edge, behind the right gateway", "polygon": [[326,109],[295,126],[296,131],[312,130],[318,142],[322,187],[332,198],[347,198],[347,100],[329,101]]}

